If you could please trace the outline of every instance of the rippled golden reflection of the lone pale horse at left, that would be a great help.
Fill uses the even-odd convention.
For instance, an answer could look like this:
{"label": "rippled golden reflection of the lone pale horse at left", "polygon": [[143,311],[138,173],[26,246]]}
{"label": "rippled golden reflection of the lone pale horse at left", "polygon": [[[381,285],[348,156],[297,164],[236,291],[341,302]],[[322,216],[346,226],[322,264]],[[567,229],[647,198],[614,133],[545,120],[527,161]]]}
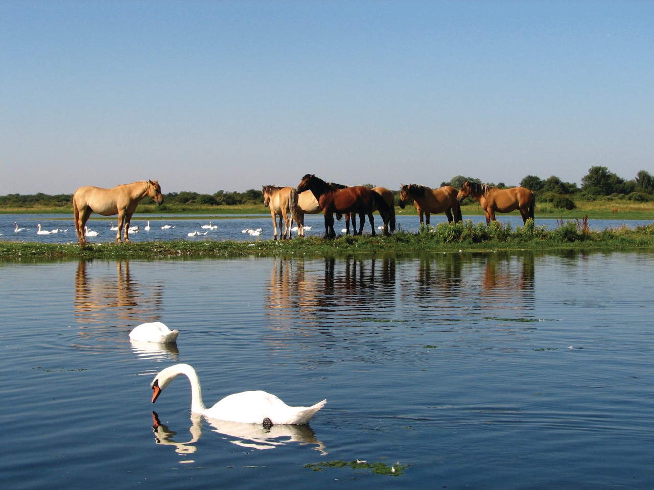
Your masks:
{"label": "rippled golden reflection of the lone pale horse at left", "polygon": [[160,321],[163,282],[139,284],[129,271],[129,261],[116,261],[116,274],[107,273],[106,262],[94,265],[80,260],[75,275],[74,316],[79,323],[114,327],[116,319],[133,327]]}

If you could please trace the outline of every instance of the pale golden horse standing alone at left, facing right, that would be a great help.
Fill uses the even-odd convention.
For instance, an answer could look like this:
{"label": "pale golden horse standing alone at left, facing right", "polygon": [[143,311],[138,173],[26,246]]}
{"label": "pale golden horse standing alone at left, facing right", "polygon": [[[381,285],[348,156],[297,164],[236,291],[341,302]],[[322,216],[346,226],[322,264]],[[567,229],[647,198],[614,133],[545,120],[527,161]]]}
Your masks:
{"label": "pale golden horse standing alone at left, facing right", "polygon": [[131,215],[134,214],[139,201],[146,195],[154,199],[159,206],[163,203],[162,188],[154,180],[141,180],[131,184],[122,184],[112,189],[94,186],[80,187],[73,194],[73,212],[75,213],[75,231],[82,246],[86,245],[84,226],[92,212],[102,216],[118,214],[118,233],[116,242],[120,242],[120,231],[125,225],[124,239],[129,242],[128,229]]}

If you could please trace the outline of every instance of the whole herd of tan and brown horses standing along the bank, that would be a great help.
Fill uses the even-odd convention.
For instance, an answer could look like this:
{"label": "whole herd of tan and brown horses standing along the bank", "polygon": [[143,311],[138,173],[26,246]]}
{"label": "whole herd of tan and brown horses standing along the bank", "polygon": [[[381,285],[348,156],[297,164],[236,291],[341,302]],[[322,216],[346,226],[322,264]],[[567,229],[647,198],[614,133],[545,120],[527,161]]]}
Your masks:
{"label": "whole herd of tan and brown horses standing along the bank", "polygon": [[[523,223],[529,218],[534,219],[536,201],[534,193],[524,187],[499,189],[487,184],[466,181],[457,190],[452,186],[432,189],[417,184],[400,184],[400,200],[403,208],[413,201],[420,216],[420,223],[429,225],[430,214],[445,213],[447,221],[462,221],[460,203],[472,195],[484,210],[486,224],[495,220],[495,213],[508,213],[519,210]],[[383,235],[395,231],[395,196],[384,187],[368,188],[366,186],[344,186],[325,182],[315,174],[306,174],[297,187],[262,186],[264,205],[270,209],[273,219],[273,237],[277,240],[279,217],[279,238],[290,238],[292,221],[298,226],[298,236],[304,236],[304,215],[324,215],[324,238],[336,237],[334,231],[334,214],[337,220],[345,217],[346,232],[350,233],[352,224],[353,235],[363,233],[366,216],[370,221],[372,235],[375,236],[375,220],[373,212],[379,212],[383,221]],[[86,244],[84,227],[92,212],[103,216],[118,214],[118,233],[116,242],[121,242],[120,234],[124,227],[124,240],[129,242],[128,229],[131,216],[139,202],[146,196],[152,197],[155,203],[163,203],[161,186],[156,180],[143,180],[122,184],[112,189],[102,189],[85,186],[73,194],[73,212],[75,214],[75,231],[82,246]],[[289,218],[290,216],[290,218]],[[359,217],[359,228],[356,229],[356,216]]]}

